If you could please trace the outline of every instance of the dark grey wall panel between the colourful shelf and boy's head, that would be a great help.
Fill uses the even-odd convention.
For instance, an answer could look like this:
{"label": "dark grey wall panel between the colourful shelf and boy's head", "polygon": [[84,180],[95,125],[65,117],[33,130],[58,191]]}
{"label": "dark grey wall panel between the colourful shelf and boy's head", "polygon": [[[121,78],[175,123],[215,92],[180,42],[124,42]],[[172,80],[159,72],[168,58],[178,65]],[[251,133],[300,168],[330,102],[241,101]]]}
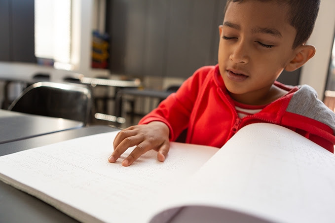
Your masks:
{"label": "dark grey wall panel between the colourful shelf and boy's head", "polygon": [[108,1],[111,72],[188,77],[217,63],[223,0]]}

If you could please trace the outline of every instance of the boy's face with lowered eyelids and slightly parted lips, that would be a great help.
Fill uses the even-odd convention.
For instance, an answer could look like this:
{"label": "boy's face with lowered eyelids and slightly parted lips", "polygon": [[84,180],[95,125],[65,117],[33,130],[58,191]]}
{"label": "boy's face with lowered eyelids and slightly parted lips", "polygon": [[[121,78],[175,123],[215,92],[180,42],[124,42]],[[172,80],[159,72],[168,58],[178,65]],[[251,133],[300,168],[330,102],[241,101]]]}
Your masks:
{"label": "boy's face with lowered eyelids and slightly parted lips", "polygon": [[285,20],[287,11],[275,1],[229,3],[219,27],[218,60],[233,99],[256,105],[276,94],[274,81],[296,55],[296,30]]}

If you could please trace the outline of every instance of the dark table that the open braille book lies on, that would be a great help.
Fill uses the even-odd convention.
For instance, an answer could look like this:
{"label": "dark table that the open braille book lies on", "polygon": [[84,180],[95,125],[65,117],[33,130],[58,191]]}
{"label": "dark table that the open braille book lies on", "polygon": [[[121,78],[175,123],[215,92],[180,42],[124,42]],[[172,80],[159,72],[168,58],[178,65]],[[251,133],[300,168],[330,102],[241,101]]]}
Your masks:
{"label": "dark table that the open braille book lies on", "polygon": [[[115,130],[117,129],[109,126],[91,126],[5,143],[0,145],[0,156]],[[36,197],[0,182],[0,222],[76,223],[77,221]]]}

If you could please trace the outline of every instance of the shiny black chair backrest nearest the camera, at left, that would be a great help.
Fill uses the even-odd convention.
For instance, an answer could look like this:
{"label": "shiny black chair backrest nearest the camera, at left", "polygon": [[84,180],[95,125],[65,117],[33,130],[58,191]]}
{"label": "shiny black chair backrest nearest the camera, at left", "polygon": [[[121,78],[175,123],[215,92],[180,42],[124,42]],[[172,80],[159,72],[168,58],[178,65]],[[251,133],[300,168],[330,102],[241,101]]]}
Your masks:
{"label": "shiny black chair backrest nearest the camera, at left", "polygon": [[85,85],[37,82],[27,87],[8,110],[81,121],[90,119],[91,92]]}

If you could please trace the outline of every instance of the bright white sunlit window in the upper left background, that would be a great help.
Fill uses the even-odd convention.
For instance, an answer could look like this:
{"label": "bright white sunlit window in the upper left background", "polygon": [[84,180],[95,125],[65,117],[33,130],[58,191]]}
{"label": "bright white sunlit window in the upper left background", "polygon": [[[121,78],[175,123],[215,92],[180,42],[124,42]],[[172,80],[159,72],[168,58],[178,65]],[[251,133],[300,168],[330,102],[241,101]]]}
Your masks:
{"label": "bright white sunlit window in the upper left background", "polygon": [[[35,56],[71,64],[71,0],[35,0]],[[62,66],[64,69],[64,66]]]}

